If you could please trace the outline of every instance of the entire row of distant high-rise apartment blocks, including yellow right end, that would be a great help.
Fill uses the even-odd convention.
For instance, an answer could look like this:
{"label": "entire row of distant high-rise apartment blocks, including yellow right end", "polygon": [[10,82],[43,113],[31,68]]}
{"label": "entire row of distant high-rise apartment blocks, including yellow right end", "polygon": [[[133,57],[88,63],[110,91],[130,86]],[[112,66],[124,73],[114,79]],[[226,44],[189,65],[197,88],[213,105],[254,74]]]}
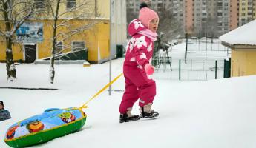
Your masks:
{"label": "entire row of distant high-rise apartment blocks, including yellow right end", "polygon": [[[129,11],[139,11],[139,0],[127,4]],[[218,37],[256,18],[256,0],[151,0],[149,5],[158,12],[170,9],[184,33],[199,37]]]}

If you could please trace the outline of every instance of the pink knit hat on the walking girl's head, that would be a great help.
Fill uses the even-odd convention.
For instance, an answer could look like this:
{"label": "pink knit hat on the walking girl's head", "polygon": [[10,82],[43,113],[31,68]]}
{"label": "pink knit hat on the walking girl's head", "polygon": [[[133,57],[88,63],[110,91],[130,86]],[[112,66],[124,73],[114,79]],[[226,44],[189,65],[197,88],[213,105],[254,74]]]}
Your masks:
{"label": "pink knit hat on the walking girl's head", "polygon": [[142,9],[140,9],[139,20],[142,21],[142,24],[144,24],[146,27],[149,27],[149,22],[154,18],[159,19],[154,10],[151,10],[148,7],[142,7]]}

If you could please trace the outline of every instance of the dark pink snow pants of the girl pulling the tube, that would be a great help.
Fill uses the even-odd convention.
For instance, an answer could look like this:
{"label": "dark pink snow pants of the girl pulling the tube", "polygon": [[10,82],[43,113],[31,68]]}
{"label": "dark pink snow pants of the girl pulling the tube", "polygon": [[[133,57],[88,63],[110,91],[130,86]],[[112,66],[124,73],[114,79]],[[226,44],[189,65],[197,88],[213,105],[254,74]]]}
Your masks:
{"label": "dark pink snow pants of the girl pulling the tube", "polygon": [[139,106],[153,103],[156,95],[156,83],[154,80],[148,79],[145,70],[137,66],[124,66],[125,75],[125,93],[119,106],[121,114],[133,107],[134,103],[140,98]]}

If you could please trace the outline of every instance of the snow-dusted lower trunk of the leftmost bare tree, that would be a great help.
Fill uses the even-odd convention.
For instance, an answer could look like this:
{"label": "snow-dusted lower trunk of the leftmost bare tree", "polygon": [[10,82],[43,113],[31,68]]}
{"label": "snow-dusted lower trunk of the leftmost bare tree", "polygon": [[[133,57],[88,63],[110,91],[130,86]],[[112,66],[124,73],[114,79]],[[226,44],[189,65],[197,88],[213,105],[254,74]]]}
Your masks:
{"label": "snow-dusted lower trunk of the leftmost bare tree", "polygon": [[6,38],[6,71],[7,80],[13,81],[16,78],[16,67],[13,61],[13,42],[10,38]]}

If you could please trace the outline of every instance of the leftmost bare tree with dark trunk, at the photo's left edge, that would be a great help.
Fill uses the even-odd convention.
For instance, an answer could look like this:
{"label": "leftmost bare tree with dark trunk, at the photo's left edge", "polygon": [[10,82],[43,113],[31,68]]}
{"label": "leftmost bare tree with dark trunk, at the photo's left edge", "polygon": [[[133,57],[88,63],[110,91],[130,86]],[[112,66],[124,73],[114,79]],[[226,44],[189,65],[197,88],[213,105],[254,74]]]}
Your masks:
{"label": "leftmost bare tree with dark trunk, at the photo's left edge", "polygon": [[4,25],[0,27],[0,36],[6,43],[6,71],[7,79],[14,81],[16,67],[13,61],[13,44],[16,43],[16,30],[33,15],[36,10],[34,0],[0,0],[0,18]]}

